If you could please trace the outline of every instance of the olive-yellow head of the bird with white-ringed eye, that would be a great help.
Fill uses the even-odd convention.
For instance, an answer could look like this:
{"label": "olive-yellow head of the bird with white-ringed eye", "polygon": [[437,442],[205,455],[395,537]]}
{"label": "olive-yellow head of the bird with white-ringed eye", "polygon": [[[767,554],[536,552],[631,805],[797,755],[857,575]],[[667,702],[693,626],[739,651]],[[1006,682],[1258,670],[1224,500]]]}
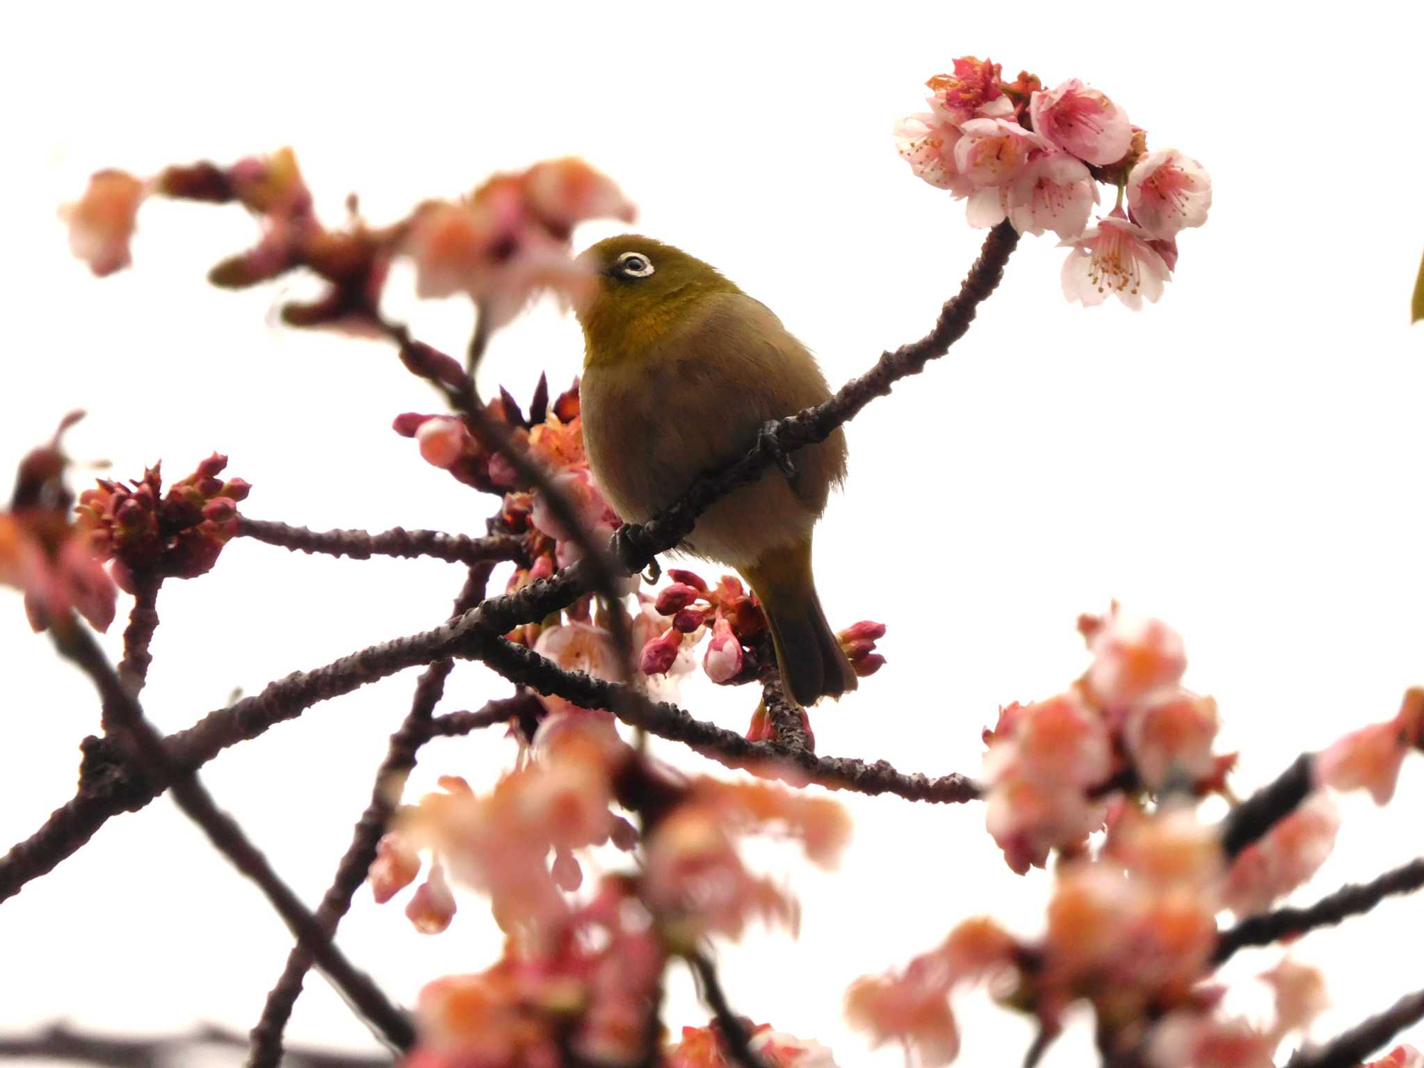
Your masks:
{"label": "olive-yellow head of the bird with white-ringed eye", "polygon": [[644,359],[713,293],[738,288],[715,268],[661,241],[625,234],[578,256],[594,275],[578,302],[585,363]]}

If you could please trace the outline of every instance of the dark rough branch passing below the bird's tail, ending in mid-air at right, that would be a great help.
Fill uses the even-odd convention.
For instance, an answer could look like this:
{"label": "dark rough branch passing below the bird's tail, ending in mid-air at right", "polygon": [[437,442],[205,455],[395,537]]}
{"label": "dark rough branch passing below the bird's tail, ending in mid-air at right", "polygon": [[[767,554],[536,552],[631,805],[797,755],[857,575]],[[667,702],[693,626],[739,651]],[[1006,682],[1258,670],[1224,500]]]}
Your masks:
{"label": "dark rough branch passing below the bird's tail, ending in mid-air at right", "polygon": [[[909,800],[960,803],[980,797],[980,787],[963,775],[930,779],[904,775],[884,760],[866,763],[846,756],[817,756],[778,742],[749,742],[733,731],[693,719],[669,702],[654,702],[632,689],[584,672],[564,671],[544,656],[503,638],[476,634],[466,654],[484,661],[511,682],[553,693],[582,708],[612,709],[631,726],[674,742],[684,742],[703,756],[731,768],[778,773],[792,782],[812,782],[829,790],[893,793]],[[621,691],[621,693],[619,693]]]}

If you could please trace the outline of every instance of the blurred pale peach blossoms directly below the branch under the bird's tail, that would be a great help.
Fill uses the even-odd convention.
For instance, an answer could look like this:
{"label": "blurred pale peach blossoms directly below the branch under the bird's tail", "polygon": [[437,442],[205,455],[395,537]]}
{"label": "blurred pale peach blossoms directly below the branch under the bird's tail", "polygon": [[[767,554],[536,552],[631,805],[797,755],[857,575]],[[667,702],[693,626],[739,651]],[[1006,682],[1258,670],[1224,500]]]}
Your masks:
{"label": "blurred pale peach blossoms directly below the branch under the bird's tail", "polygon": [[565,894],[584,880],[575,853],[608,842],[632,849],[638,839],[612,806],[642,813],[644,867],[634,881],[659,937],[681,947],[736,937],[758,916],[795,926],[796,903],[746,870],[738,837],[775,829],[832,864],[849,833],[833,802],[759,782],[685,780],[619,740],[609,716],[582,709],[547,715],[527,756],[488,795],[456,778],[441,787],[386,836],[370,871],[376,899],[390,900],[417,877],[419,852],[433,850],[431,876],[407,909],[431,933],[454,914],[446,871],[487,893],[506,931],[567,921]]}

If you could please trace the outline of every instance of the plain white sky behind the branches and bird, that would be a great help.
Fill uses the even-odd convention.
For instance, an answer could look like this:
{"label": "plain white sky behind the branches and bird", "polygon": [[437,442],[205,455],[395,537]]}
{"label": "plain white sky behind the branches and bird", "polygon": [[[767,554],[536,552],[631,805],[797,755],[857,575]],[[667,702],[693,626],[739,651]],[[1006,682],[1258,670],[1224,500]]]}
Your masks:
{"label": "plain white sky behind the branches and bird", "polygon": [[[953,355],[849,427],[850,478],[817,531],[817,581],[836,625],[889,624],[890,664],[815,715],[820,750],[975,773],[997,706],[1075,678],[1074,619],[1109,598],[1183,632],[1188,685],[1220,701],[1222,746],[1243,750],[1243,793],[1302,749],[1391,716],[1424,682],[1424,332],[1407,329],[1424,246],[1417,9],[394,10],[31,4],[6,16],[6,470],[81,406],[90,417],[70,451],[112,460],[117,476],[162,457],[178,477],[216,449],[253,483],[252,517],[483,531],[493,498],[387,429],[399,412],[440,406],[386,346],[282,329],[279,288],[205,285],[208,266],[251,244],[239,209],[148,204],[135,269],[104,282],[68,258],[54,211],[90,171],[229,162],[283,144],[333,222],[353,189],[384,222],[494,169],[582,155],[639,205],[642,232],[769,303],[839,384],[918,337],[975,255],[983,234],[911,177],[890,125],[923,110],[921,83],[953,57],[988,54],[1005,73],[1105,90],[1152,145],[1203,162],[1215,205],[1142,313],[1068,305],[1065,252],[1025,238]],[[577,244],[611,232],[590,225]],[[390,302],[419,336],[463,345],[460,302],[416,306],[407,275]],[[504,383],[523,400],[541,370],[561,387],[580,359],[577,323],[540,305],[496,339],[481,387]],[[234,543],[211,575],[164,588],[147,711],[172,731],[234,688],[424,629],[460,578],[430,561]],[[127,605],[105,638],[115,656]],[[71,796],[97,705],[30,635],[13,592],[0,592],[0,668],[3,849]],[[316,706],[204,772],[313,904],[413,682],[407,672]],[[443,708],[507,689],[460,665]],[[699,685],[684,703],[742,729],[755,693]],[[412,790],[437,773],[488,783],[511,753],[497,733],[433,743]],[[1347,799],[1336,854],[1299,900],[1418,854],[1421,783],[1415,756],[1388,809]],[[802,938],[755,930],[719,956],[739,1011],[820,1038],[847,1068],[894,1065],[899,1052],[871,1055],[843,1027],[844,987],[965,916],[1037,931],[1049,877],[1008,871],[981,806],[846,803],[856,837],[839,874],[802,871],[789,847],[758,850],[793,873]],[[484,903],[461,904],[429,938],[363,889],[340,944],[409,1001],[429,978],[494,960]],[[1336,1000],[1320,1037],[1421,985],[1418,907],[1390,903],[1300,947]],[[289,944],[258,891],[161,800],[0,906],[0,1032],[58,1017],[104,1031],[246,1030]],[[1242,954],[1236,971],[1273,960]],[[974,997],[958,1005],[963,1064],[1021,1055],[1025,1022]],[[705,1018],[679,977],[669,1025]],[[370,1048],[320,980],[289,1035]],[[1048,1064],[1089,1055],[1079,1028]]]}

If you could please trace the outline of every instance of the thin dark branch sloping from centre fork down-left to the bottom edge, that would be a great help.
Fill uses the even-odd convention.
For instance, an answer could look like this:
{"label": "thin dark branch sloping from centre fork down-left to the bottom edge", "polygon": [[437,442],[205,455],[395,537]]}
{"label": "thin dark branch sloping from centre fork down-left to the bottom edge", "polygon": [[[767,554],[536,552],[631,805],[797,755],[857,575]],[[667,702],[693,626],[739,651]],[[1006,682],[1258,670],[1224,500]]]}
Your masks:
{"label": "thin dark branch sloping from centre fork down-left to the bottom edge", "polygon": [[[453,615],[461,615],[484,597],[493,570],[491,562],[474,564],[470,568],[468,580],[456,598]],[[316,921],[322,926],[328,941],[336,934],[336,927],[350,909],[352,897],[366,881],[366,873],[370,870],[372,862],[376,860],[376,846],[382,834],[386,833],[406,778],[416,766],[420,746],[431,738],[431,718],[436,705],[444,695],[444,684],[453,669],[454,661],[443,659],[436,661],[422,672],[410,701],[410,712],[406,713],[400,729],[390,736],[386,758],[376,769],[370,802],[356,822],[350,844],[346,847],[346,853],[336,867],[336,876],[316,910]],[[281,1062],[282,1031],[292,1017],[292,1008],[302,994],[302,983],[313,960],[315,957],[306,946],[298,943],[292,947],[282,975],[268,993],[262,1017],[252,1028],[248,1068],[276,1068]]]}

